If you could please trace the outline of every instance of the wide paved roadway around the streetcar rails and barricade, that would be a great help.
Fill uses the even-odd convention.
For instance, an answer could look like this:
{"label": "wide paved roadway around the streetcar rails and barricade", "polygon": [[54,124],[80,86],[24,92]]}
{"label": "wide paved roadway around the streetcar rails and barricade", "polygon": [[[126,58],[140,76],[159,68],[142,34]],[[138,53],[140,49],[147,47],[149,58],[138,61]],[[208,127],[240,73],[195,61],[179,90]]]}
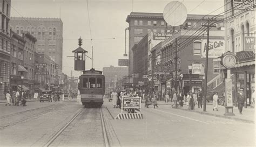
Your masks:
{"label": "wide paved roadway around the streetcar rails and barricade", "polygon": [[[112,120],[102,106],[111,146],[254,146],[254,124],[160,105],[142,108],[143,120]],[[0,104],[1,146],[43,146],[83,108],[76,102]],[[118,110],[118,109],[114,109]],[[104,146],[99,108],[85,108],[52,146]]]}

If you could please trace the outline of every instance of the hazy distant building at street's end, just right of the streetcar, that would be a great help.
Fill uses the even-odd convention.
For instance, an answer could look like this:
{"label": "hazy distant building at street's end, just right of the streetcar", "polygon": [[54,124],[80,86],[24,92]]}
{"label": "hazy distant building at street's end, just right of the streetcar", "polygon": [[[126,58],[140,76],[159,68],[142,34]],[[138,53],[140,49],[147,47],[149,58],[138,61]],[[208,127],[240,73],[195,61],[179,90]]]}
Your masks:
{"label": "hazy distant building at street's end, just right of the streetcar", "polygon": [[103,74],[105,75],[105,87],[115,88],[116,82],[128,75],[128,67],[103,67]]}

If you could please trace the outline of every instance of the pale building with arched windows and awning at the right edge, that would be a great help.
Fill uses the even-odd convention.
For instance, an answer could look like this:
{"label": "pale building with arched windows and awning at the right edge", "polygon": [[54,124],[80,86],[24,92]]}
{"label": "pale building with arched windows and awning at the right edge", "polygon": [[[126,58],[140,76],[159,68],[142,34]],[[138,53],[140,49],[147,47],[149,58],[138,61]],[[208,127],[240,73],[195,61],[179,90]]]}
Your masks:
{"label": "pale building with arched windows and awning at the right edge", "polygon": [[234,102],[242,88],[247,104],[255,90],[255,2],[225,0],[225,48],[238,59],[231,68]]}

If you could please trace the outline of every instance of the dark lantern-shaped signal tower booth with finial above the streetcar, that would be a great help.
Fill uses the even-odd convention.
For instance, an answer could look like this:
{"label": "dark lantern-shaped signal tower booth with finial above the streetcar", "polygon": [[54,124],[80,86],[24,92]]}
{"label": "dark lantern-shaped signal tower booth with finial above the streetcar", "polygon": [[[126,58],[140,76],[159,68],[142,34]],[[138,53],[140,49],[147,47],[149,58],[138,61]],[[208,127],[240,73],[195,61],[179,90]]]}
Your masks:
{"label": "dark lantern-shaped signal tower booth with finial above the streetcar", "polygon": [[81,47],[82,43],[83,41],[80,37],[78,39],[79,47],[76,50],[72,51],[73,53],[75,53],[75,71],[85,70],[85,53],[87,53],[87,51],[85,51],[84,48]]}

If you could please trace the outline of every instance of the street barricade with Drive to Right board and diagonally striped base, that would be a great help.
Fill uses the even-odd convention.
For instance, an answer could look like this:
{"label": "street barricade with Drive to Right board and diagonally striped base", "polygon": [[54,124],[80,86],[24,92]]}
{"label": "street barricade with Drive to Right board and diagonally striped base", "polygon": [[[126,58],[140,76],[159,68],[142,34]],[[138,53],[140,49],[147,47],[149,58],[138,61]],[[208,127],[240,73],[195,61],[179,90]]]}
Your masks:
{"label": "street barricade with Drive to Right board and diagonally striped base", "polygon": [[[119,113],[115,120],[126,120],[126,119],[142,119],[143,115],[141,113],[141,101],[142,97],[122,97],[121,103],[121,113]],[[126,113],[128,110],[129,113]]]}

